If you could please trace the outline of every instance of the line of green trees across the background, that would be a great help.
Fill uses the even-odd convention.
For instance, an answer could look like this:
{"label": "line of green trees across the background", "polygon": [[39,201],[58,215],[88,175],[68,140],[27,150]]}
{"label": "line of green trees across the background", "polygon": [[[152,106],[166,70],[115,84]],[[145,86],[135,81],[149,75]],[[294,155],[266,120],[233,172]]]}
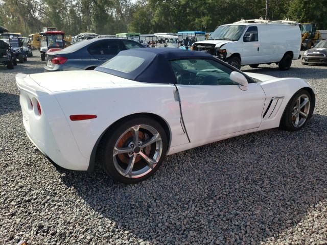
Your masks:
{"label": "line of green trees across the background", "polygon": [[[327,0],[269,0],[270,20],[317,22],[327,29]],[[0,26],[24,35],[42,27],[80,32],[212,32],[242,18],[265,17],[266,0],[0,0]]]}

